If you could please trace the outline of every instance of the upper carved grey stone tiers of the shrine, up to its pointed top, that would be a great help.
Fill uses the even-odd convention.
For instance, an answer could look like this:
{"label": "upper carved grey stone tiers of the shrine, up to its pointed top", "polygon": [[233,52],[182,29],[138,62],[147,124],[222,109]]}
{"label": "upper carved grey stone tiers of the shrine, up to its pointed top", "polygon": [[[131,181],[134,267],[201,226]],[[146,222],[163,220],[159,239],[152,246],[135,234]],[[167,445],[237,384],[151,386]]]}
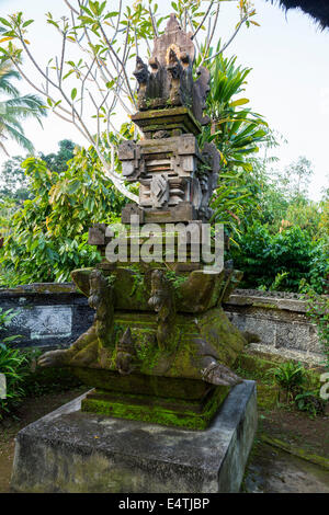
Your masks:
{"label": "upper carved grey stone tiers of the shrine, up to its pointed top", "polygon": [[[125,141],[118,149],[123,175],[138,181],[143,221],[203,220],[212,215],[209,197],[217,184],[219,154],[214,145],[198,148],[197,135],[209,123],[203,115],[209,72],[192,68],[192,34],[183,32],[172,14],[166,32],[155,41],[148,66],[137,58],[138,107],[132,119],[145,139]],[[175,208],[179,206],[179,215]],[[128,221],[134,206],[123,211]]]}

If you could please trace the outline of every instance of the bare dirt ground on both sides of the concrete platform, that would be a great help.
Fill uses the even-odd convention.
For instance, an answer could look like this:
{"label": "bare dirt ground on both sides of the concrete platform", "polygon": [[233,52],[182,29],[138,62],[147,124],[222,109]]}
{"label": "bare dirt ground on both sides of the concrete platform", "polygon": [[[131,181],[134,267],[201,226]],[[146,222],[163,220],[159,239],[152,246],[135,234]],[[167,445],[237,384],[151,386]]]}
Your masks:
{"label": "bare dirt ground on both sides of the concrete platform", "polygon": [[[16,419],[0,423],[0,493],[10,491],[14,437],[27,424],[75,399],[84,388],[26,399]],[[311,420],[304,413],[275,409],[259,412],[259,428],[247,466],[242,491],[249,493],[329,493],[329,471],[262,442],[279,438],[328,458],[329,416]]]}

